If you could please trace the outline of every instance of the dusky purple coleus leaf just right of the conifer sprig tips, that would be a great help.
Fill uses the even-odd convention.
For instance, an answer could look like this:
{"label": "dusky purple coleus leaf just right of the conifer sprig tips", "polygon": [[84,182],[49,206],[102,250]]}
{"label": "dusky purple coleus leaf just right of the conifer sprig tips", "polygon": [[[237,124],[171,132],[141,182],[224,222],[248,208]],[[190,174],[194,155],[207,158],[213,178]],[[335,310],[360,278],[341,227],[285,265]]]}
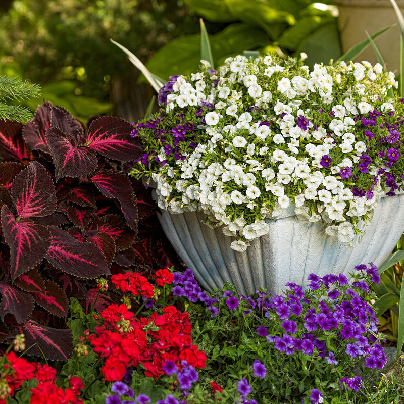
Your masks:
{"label": "dusky purple coleus leaf just right of the conifer sprig tips", "polygon": [[51,127],[51,105],[48,103],[40,105],[34,118],[28,121],[22,129],[22,136],[31,150],[42,150],[45,153],[49,151],[45,131]]}

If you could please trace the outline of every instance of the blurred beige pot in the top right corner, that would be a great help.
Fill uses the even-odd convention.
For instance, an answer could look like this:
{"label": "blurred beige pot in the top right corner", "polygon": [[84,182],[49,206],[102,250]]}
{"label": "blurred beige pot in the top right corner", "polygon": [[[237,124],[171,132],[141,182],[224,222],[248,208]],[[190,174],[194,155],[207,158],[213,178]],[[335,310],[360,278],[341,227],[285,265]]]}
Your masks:
{"label": "blurred beige pot in the top right corner", "polygon": [[[387,70],[395,73],[400,68],[400,30],[390,0],[334,0],[338,6],[338,27],[342,52],[367,39],[366,31],[373,35],[392,24],[396,26],[384,32],[375,40]],[[404,0],[396,0],[401,12]],[[372,46],[368,46],[354,62],[366,60],[372,65],[378,62]]]}

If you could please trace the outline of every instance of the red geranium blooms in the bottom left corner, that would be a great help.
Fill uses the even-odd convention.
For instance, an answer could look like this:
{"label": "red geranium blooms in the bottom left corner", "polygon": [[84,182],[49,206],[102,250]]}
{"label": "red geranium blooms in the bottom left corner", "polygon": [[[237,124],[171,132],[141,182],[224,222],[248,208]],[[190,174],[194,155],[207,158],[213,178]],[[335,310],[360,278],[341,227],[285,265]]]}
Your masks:
{"label": "red geranium blooms in the bottom left corner", "polygon": [[[56,369],[48,365],[30,363],[24,358],[19,358],[13,351],[6,354],[6,364],[3,366],[1,375],[2,387],[6,382],[7,393],[12,397],[19,389],[24,380],[37,379],[38,384],[31,389],[32,396],[30,404],[42,404],[52,402],[53,404],[82,404],[83,401],[76,395],[84,387],[79,377],[72,377],[70,380],[71,389],[56,386]],[[4,388],[3,388],[4,390]],[[6,404],[6,399],[2,396],[0,404]]]}

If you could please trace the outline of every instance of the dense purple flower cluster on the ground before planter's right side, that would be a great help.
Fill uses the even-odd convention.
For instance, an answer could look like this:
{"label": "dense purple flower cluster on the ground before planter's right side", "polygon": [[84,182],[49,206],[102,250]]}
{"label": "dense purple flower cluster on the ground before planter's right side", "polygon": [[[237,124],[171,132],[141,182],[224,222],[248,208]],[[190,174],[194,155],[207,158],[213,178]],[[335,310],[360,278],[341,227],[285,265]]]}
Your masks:
{"label": "dense purple flower cluster on the ground before planter's right side", "polygon": [[[380,282],[380,275],[372,263],[369,267],[362,264],[355,268],[366,273],[372,281]],[[323,278],[311,274],[308,280],[306,295],[301,287],[289,283],[286,297],[272,296],[264,310],[269,311],[272,318],[279,319],[285,333],[269,335],[267,341],[287,355],[301,351],[336,365],[335,352],[328,351],[328,355],[326,352],[324,335],[330,335],[336,339],[339,357],[344,351],[351,358],[366,358],[369,368],[382,368],[386,357],[383,348],[376,343],[377,318],[373,308],[359,294],[369,291],[367,283],[359,279],[349,287],[343,274]],[[257,331],[259,335],[266,335],[261,329]]]}

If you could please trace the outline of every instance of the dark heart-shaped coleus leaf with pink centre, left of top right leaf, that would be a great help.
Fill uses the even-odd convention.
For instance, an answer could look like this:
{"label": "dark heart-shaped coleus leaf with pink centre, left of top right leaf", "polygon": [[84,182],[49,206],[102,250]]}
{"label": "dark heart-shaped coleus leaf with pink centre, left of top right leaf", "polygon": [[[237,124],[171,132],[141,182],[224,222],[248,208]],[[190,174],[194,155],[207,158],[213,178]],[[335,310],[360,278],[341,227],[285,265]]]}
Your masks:
{"label": "dark heart-shaped coleus leaf with pink centre, left of top right leaf", "polygon": [[55,164],[56,181],[61,177],[86,176],[97,168],[95,151],[74,144],[72,137],[59,128],[48,129],[46,141]]}

